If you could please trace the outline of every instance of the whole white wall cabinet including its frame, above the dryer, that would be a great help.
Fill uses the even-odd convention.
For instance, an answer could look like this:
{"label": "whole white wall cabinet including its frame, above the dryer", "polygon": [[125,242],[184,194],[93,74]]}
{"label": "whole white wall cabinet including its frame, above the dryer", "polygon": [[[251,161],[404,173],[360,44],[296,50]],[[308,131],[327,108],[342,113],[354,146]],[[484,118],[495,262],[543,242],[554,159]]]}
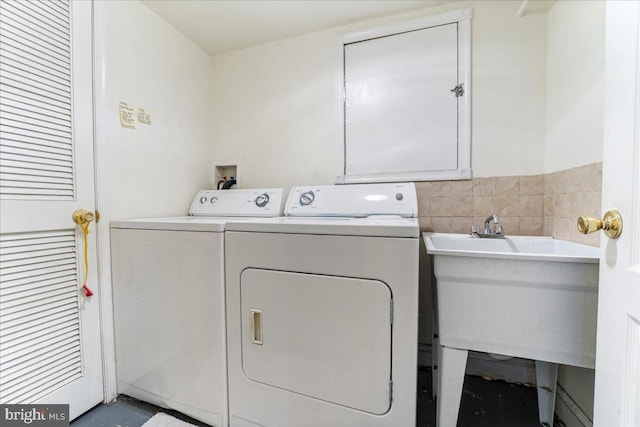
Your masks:
{"label": "whole white wall cabinet including its frame, above the dryer", "polygon": [[471,178],[471,10],[336,44],[336,182]]}

